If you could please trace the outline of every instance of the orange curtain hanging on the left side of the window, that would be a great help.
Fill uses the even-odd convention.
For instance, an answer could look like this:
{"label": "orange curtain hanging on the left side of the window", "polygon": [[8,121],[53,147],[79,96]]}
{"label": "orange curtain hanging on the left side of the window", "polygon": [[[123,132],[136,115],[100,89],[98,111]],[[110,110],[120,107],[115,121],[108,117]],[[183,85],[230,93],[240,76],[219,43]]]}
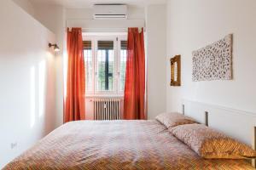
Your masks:
{"label": "orange curtain hanging on the left side of the window", "polygon": [[64,122],[85,119],[84,52],[81,28],[67,28],[67,96]]}

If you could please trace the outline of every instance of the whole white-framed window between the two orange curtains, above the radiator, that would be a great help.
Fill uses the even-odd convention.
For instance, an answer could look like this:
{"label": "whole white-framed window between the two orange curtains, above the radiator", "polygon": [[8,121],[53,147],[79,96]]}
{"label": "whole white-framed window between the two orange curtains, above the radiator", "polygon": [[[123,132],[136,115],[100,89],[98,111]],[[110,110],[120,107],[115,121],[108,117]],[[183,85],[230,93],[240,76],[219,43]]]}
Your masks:
{"label": "whole white-framed window between the two orange curtains, above the radiator", "polygon": [[126,36],[84,37],[86,95],[123,95]]}

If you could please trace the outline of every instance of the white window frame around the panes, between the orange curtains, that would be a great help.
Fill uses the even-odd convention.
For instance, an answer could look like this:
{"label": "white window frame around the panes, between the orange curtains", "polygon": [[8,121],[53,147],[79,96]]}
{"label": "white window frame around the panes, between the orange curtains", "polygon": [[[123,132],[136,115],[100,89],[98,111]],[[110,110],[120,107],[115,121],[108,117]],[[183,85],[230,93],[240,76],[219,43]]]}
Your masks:
{"label": "white window frame around the panes, between the orange curtains", "polygon": [[[120,88],[120,54],[121,54],[121,41],[127,41],[127,34],[83,34],[83,41],[91,41],[91,54],[92,54],[92,91],[86,91],[85,97],[96,97],[96,96],[113,96],[122,97],[124,96],[124,90]],[[98,41],[113,41],[113,91],[98,91],[97,90],[97,46]],[[86,68],[85,68],[86,71]],[[86,75],[86,74],[85,74]],[[86,77],[85,77],[86,79]]]}

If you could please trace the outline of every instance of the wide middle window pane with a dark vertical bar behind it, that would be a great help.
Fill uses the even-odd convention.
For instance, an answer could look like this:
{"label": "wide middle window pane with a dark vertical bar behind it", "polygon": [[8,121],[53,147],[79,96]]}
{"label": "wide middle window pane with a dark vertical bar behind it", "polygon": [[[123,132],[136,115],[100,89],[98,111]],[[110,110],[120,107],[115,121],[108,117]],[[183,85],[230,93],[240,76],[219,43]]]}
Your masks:
{"label": "wide middle window pane with a dark vertical bar behind it", "polygon": [[97,90],[113,91],[113,41],[98,41]]}

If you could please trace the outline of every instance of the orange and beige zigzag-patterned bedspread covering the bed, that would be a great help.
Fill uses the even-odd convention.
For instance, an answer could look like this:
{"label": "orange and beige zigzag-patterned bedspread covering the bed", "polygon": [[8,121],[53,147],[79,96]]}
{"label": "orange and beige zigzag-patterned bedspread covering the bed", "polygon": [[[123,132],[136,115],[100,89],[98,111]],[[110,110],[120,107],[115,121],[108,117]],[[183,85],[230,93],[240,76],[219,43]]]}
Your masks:
{"label": "orange and beige zigzag-patterned bedspread covering the bed", "polygon": [[157,121],[69,122],[3,169],[253,169],[237,160],[205,160]]}

